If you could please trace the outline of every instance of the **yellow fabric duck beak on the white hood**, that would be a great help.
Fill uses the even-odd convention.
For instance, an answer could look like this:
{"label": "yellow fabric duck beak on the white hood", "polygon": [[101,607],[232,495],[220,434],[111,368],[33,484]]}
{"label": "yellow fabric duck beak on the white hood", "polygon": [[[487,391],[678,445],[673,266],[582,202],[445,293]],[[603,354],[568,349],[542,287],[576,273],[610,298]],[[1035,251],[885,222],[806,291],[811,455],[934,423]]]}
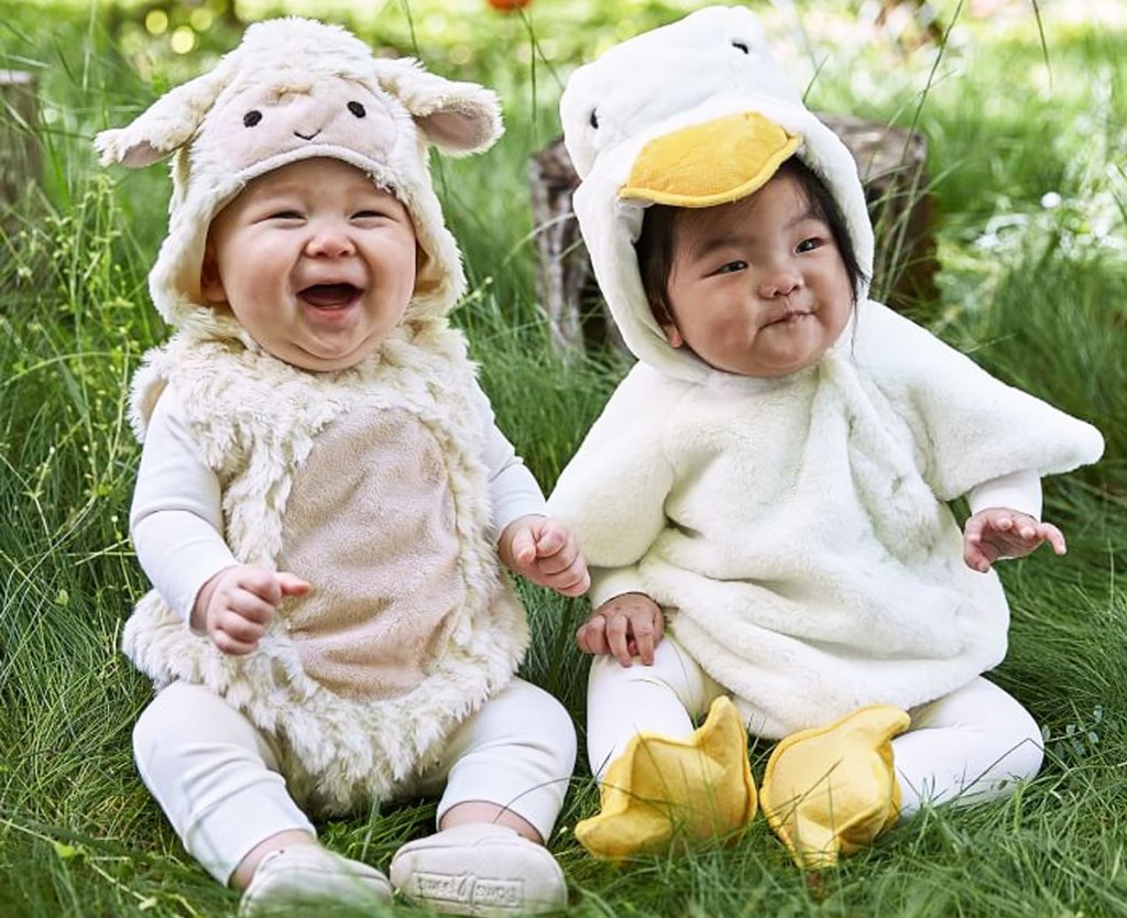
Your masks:
{"label": "yellow fabric duck beak on the white hood", "polygon": [[647,143],[619,197],[681,208],[727,204],[762,187],[800,143],[757,112],[694,124]]}

